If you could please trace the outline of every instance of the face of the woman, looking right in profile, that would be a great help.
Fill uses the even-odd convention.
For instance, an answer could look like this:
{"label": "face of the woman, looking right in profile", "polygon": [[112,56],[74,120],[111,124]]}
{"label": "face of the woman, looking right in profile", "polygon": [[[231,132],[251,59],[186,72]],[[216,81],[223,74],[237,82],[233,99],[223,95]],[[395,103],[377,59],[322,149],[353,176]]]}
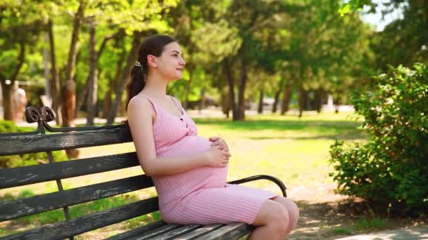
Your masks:
{"label": "face of the woman, looking right in profile", "polygon": [[156,59],[156,69],[165,79],[181,79],[184,65],[186,62],[182,58],[182,51],[177,42],[166,45],[160,57]]}

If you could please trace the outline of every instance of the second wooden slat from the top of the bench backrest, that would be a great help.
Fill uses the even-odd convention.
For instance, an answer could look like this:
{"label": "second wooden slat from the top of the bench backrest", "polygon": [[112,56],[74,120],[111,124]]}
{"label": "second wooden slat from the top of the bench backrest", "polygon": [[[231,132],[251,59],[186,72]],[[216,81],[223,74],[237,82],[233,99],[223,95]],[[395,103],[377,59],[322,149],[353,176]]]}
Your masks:
{"label": "second wooden slat from the top of the bench backrest", "polygon": [[135,152],[0,169],[0,189],[138,166]]}

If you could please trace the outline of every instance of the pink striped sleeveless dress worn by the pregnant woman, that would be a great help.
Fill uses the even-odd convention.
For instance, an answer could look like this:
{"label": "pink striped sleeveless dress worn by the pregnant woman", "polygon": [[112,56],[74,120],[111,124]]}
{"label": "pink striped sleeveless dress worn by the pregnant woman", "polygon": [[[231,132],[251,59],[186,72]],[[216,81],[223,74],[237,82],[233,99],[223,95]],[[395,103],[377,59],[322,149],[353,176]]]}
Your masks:
{"label": "pink striped sleeveless dress worn by the pregnant woman", "polygon": [[[182,116],[165,112],[145,96],[156,112],[153,135],[157,157],[191,156],[210,147],[208,139],[196,135],[196,124],[178,100],[171,97]],[[252,224],[263,202],[277,194],[227,184],[227,168],[202,167],[175,175],[153,175],[163,220],[177,224]]]}

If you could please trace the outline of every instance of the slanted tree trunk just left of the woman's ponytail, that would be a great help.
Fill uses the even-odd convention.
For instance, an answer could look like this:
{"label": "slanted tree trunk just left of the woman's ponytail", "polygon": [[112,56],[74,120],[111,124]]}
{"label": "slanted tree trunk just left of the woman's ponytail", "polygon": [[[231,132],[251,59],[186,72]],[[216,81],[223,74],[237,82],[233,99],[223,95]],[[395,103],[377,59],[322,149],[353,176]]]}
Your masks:
{"label": "slanted tree trunk just left of the woman's ponytail", "polygon": [[125,83],[130,78],[131,67],[132,65],[134,65],[134,62],[137,59],[139,42],[142,35],[143,35],[142,32],[134,32],[134,40],[132,41],[130,55],[128,56],[125,70],[122,72],[122,78],[120,79],[120,84],[116,89],[116,98],[113,101],[110,112],[108,112],[108,118],[107,118],[106,124],[113,124],[115,120],[115,116],[116,116],[116,113],[118,112],[120,101],[122,100],[122,93],[123,93],[123,90],[125,89]]}

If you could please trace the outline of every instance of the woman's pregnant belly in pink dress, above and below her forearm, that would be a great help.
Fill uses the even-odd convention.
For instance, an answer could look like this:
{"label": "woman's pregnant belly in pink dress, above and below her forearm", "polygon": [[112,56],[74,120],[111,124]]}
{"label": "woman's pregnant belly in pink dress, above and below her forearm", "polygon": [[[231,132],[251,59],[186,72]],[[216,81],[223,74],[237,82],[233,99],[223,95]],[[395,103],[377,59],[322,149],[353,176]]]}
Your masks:
{"label": "woman's pregnant belly in pink dress, above and below her forearm", "polygon": [[[206,151],[210,145],[211,142],[206,138],[187,135],[174,145],[170,145],[168,149],[158,153],[158,158],[191,156]],[[165,207],[165,204],[182,199],[199,189],[225,187],[227,168],[205,166],[174,175],[153,176],[159,204]]]}

